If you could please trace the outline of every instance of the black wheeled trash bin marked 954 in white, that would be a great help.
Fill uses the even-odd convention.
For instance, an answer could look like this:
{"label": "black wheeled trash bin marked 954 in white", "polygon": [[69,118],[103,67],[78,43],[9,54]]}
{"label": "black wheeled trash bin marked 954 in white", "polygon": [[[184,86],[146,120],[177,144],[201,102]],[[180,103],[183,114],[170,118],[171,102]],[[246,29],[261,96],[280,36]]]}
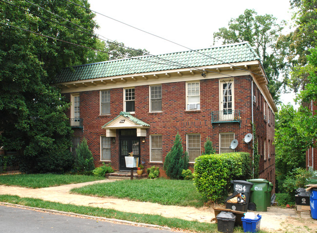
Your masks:
{"label": "black wheeled trash bin marked 954 in white", "polygon": [[[245,181],[245,180],[231,180],[231,183],[233,184],[233,195],[228,197],[226,199],[226,208],[232,209],[236,211],[242,211],[246,212],[248,210],[249,200],[250,200],[250,193],[251,188],[253,186],[253,183]],[[245,196],[245,202],[244,203],[230,203],[227,202],[231,198],[235,197],[238,194],[243,194]]]}

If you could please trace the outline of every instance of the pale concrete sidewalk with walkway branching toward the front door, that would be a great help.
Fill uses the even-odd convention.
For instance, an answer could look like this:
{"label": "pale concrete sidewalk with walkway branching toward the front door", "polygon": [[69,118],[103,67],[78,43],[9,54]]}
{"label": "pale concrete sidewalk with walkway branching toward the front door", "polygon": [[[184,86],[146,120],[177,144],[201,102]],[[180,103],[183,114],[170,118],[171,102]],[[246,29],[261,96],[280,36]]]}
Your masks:
{"label": "pale concrete sidewalk with walkway branching toward the front door", "polygon": [[[114,209],[122,212],[162,215],[164,217],[176,217],[185,220],[197,220],[208,222],[215,217],[214,210],[208,207],[194,208],[181,206],[167,206],[150,202],[130,201],[126,199],[90,197],[78,194],[70,194],[72,188],[81,187],[93,183],[112,182],[113,180],[104,179],[79,184],[68,184],[57,187],[29,189],[15,186],[0,185],[0,195],[9,194],[19,197],[40,198],[47,201],[60,202],[65,204],[94,206],[100,208]],[[116,181],[120,182],[120,181]],[[259,213],[259,212],[257,212]],[[293,209],[281,209],[271,207],[268,212],[260,212],[261,230],[280,231],[286,222],[302,222],[302,218]]]}

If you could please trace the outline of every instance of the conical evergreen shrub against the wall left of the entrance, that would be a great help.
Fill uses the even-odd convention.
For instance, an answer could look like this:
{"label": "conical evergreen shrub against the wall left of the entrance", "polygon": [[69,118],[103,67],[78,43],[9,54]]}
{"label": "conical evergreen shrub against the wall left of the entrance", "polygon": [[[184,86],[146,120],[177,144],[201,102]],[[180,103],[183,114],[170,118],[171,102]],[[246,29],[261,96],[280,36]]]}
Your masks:
{"label": "conical evergreen shrub against the wall left of the entrance", "polygon": [[88,148],[87,140],[82,139],[76,148],[77,160],[75,161],[75,169],[78,171],[91,171],[95,169],[94,158]]}

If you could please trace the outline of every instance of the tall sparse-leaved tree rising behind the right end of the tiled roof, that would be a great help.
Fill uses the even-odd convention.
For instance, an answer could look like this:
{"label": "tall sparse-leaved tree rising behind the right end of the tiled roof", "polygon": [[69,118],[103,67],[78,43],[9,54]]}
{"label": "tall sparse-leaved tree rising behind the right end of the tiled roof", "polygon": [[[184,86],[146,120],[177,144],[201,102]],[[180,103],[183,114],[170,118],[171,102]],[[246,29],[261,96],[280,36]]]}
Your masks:
{"label": "tall sparse-leaved tree rising behind the right end of the tiled roof", "polygon": [[244,14],[229,21],[228,28],[219,28],[219,32],[214,33],[214,44],[216,41],[223,44],[248,41],[255,48],[268,77],[268,88],[276,101],[281,83],[275,79],[285,66],[284,57],[277,52],[276,42],[284,25],[285,21],[277,23],[277,18],[272,15],[259,16],[256,11],[246,9]]}

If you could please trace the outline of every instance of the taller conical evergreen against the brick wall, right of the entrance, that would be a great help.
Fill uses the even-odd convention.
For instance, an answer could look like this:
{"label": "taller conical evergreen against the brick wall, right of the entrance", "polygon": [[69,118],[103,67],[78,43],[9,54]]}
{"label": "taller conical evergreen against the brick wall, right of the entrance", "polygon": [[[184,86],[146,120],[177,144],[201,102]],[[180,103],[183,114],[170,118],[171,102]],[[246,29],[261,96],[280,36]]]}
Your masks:
{"label": "taller conical evergreen against the brick wall, right of the entrance", "polygon": [[182,171],[188,169],[187,151],[183,151],[181,137],[177,133],[172,149],[165,157],[163,166],[166,175],[171,179],[182,179]]}

